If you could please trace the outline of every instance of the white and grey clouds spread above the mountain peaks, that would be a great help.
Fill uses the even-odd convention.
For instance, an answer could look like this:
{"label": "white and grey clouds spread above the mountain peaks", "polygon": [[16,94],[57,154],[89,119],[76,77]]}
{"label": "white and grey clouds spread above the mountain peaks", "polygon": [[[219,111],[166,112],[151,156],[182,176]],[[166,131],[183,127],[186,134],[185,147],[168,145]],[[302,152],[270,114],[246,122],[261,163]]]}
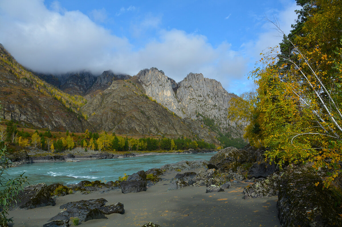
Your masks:
{"label": "white and grey clouds spread above the mountain peaks", "polygon": [[[54,10],[48,10],[42,0],[0,1],[0,41],[19,63],[32,70],[64,73],[86,69],[102,73],[110,69],[135,75],[143,68],[157,67],[176,81],[189,72],[203,73],[221,81],[228,91],[240,93],[252,87],[252,82],[244,79],[250,58],[257,59],[262,49],[281,41],[266,24],[266,32],[244,43],[241,51],[232,50],[228,42],[213,47],[203,35],[160,29],[161,16],[147,14],[135,32],[154,30],[157,37],[136,50],[128,39],[113,35],[80,11],[61,10],[57,3]],[[285,32],[295,18],[294,9],[291,5],[277,15]],[[132,6],[120,12],[133,10]],[[105,11],[91,12],[97,21],[105,20],[102,14],[106,15]]]}

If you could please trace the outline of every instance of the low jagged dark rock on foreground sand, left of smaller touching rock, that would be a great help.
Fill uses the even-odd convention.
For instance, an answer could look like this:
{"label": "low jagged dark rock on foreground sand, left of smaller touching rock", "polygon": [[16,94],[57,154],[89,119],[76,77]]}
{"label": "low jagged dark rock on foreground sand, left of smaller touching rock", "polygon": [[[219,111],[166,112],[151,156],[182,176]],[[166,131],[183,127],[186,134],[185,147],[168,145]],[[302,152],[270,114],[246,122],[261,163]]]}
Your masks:
{"label": "low jagged dark rock on foreground sand, left of smaller touching rock", "polygon": [[70,217],[78,217],[80,222],[86,222],[87,220],[106,218],[100,207],[106,204],[107,200],[91,199],[80,200],[77,202],[68,202],[60,206],[60,209],[64,209],[56,216],[52,217],[52,220],[69,220]]}

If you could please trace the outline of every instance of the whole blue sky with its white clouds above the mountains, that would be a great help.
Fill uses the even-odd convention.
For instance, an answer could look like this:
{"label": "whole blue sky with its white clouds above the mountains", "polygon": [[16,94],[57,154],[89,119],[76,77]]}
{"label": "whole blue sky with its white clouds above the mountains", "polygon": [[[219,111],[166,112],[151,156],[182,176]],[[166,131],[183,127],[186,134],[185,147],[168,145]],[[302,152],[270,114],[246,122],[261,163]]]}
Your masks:
{"label": "whole blue sky with its white clouds above the mountains", "polygon": [[[157,67],[177,82],[203,73],[240,94],[259,54],[287,34],[295,1],[0,1],[0,43],[32,70],[113,70],[135,75]],[[281,36],[281,35],[280,35]]]}

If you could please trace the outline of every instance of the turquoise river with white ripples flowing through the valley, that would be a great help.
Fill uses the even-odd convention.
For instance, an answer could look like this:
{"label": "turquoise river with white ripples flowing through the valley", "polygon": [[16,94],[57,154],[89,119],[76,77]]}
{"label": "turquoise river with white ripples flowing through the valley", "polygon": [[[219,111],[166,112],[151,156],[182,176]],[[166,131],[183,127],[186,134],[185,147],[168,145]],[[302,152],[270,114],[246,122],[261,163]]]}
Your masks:
{"label": "turquoise river with white ripples flowing through the valley", "polygon": [[205,154],[151,154],[144,156],[128,157],[124,159],[92,159],[82,162],[45,162],[24,164],[10,168],[10,177],[15,177],[25,172],[30,184],[53,183],[77,184],[82,180],[117,180],[119,176],[147,171],[150,168],[159,168],[168,163],[182,160],[210,160],[215,153]]}

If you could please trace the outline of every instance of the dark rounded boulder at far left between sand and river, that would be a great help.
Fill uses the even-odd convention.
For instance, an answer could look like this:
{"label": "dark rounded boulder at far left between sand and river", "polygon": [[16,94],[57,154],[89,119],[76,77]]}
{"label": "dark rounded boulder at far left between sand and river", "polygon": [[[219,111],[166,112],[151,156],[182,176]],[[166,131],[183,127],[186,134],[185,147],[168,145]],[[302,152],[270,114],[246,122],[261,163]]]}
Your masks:
{"label": "dark rounded boulder at far left between sand and river", "polygon": [[24,190],[19,192],[16,199],[17,203],[11,204],[11,210],[27,210],[36,207],[55,205],[55,201],[51,198],[50,191],[45,183],[24,187]]}

